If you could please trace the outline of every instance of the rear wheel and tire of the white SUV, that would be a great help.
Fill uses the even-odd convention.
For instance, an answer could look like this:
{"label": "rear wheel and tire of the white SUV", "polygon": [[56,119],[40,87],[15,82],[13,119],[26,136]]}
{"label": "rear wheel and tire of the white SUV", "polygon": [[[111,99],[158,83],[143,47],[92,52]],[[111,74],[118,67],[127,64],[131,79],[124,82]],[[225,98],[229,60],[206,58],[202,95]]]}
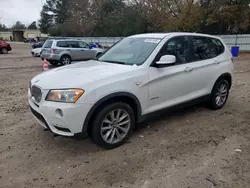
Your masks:
{"label": "rear wheel and tire of the white SUV", "polygon": [[219,110],[226,104],[229,96],[229,84],[227,80],[221,79],[215,83],[210,97],[210,107]]}

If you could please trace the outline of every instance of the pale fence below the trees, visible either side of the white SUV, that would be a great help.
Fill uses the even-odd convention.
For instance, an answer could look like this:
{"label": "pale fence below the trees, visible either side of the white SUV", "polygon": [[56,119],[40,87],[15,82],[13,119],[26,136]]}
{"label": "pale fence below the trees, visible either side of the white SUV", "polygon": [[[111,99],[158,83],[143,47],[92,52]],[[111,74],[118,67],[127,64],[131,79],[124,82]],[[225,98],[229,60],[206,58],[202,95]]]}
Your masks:
{"label": "pale fence below the trees, visible either side of the white SUV", "polygon": [[[220,35],[229,48],[234,45],[240,47],[241,52],[250,52],[250,34],[247,35]],[[80,37],[88,43],[98,42],[102,46],[110,47],[123,37]]]}

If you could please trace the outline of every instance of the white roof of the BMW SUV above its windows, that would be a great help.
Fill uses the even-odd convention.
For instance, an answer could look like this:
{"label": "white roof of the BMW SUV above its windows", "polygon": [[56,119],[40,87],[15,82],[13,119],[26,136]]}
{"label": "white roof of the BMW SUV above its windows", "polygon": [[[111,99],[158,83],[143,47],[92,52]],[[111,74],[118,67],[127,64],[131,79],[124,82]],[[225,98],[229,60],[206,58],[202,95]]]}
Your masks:
{"label": "white roof of the BMW SUV above its windows", "polygon": [[203,36],[203,37],[213,37],[218,38],[212,35],[206,35],[202,33],[188,33],[188,32],[171,32],[171,33],[145,33],[145,34],[137,34],[132,35],[130,38],[158,38],[164,39],[165,37],[173,37],[173,36]]}

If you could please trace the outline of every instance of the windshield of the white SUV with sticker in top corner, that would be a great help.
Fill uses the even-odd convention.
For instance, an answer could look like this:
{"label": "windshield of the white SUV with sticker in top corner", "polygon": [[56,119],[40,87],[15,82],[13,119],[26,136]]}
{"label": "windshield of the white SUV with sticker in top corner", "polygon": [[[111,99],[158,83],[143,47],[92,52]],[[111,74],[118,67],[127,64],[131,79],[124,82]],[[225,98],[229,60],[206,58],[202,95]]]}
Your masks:
{"label": "windshield of the white SUV with sticker in top corner", "polygon": [[161,39],[125,38],[110,48],[98,60],[126,65],[141,65],[154,51]]}

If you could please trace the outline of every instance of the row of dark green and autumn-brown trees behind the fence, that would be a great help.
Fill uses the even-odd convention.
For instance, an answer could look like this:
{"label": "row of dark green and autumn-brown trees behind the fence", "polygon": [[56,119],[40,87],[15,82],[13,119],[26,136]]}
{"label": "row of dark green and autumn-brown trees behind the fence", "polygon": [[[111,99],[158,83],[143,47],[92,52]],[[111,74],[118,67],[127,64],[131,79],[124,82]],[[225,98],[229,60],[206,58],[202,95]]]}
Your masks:
{"label": "row of dark green and autumn-brown trees behind the fence", "polygon": [[[46,0],[38,28],[52,36],[243,34],[250,33],[249,4],[250,0]],[[13,26],[23,27],[20,22]]]}

